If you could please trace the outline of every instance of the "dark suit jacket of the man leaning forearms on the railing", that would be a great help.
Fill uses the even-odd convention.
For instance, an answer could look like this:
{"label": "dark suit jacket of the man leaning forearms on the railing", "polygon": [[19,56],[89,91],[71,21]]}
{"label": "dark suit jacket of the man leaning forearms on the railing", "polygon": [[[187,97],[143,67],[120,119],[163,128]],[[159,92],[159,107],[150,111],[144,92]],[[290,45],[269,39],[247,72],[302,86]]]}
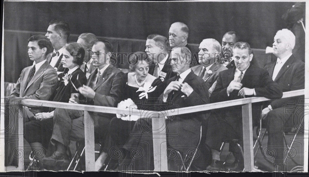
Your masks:
{"label": "dark suit jacket of the man leaning forearms on the railing", "polygon": [[[236,67],[233,67],[228,70],[221,71],[219,73],[216,88],[210,96],[211,103],[242,98],[240,96],[237,96],[239,90],[234,90],[233,92],[230,93],[229,96],[227,96],[226,93],[227,87],[229,86],[231,81],[234,80],[235,69]],[[268,72],[265,69],[253,66],[251,64],[246,70],[245,74],[243,75],[241,83],[243,84],[242,88],[243,87],[249,89],[254,88],[256,92],[256,97],[266,97],[270,99],[276,99],[282,97],[282,90],[280,89],[279,85],[276,84],[271,79]],[[254,97],[254,96],[252,95],[246,97]],[[262,103],[260,102],[252,104],[253,117],[255,118],[260,117],[261,104]],[[242,117],[241,106],[223,108],[222,110],[237,112],[236,114],[240,114],[239,117]],[[224,113],[226,111],[221,112]]]}

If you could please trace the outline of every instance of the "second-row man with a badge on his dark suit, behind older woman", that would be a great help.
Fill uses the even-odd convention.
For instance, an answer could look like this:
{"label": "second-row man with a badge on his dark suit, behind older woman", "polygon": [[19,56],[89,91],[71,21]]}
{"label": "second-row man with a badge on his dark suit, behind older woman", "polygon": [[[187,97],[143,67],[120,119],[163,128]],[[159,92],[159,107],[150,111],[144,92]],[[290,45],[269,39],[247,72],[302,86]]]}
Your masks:
{"label": "second-row man with a badge on his dark suit, behind older woman", "polygon": [[168,40],[164,36],[151,34],[147,37],[145,52],[152,60],[148,73],[162,81],[167,81],[176,75],[170,65],[168,46]]}

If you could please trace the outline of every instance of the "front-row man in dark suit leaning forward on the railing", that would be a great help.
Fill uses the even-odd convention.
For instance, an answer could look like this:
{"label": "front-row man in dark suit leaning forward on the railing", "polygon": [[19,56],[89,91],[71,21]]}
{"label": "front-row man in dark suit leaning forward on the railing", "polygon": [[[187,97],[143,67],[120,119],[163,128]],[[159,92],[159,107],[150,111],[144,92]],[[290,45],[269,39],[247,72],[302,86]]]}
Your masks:
{"label": "front-row man in dark suit leaning forward on the railing", "polygon": [[[282,91],[265,69],[256,67],[250,62],[253,54],[250,45],[246,42],[237,42],[233,46],[233,58],[235,66],[221,71],[218,76],[217,85],[210,96],[210,102],[221,102],[235,100],[245,97],[267,97],[270,99],[281,98]],[[259,119],[260,102],[252,103],[253,122]],[[212,164],[208,166],[209,171],[221,171],[223,166],[219,157],[219,149],[223,141],[239,139],[242,145],[242,107],[233,106],[211,111],[208,119],[206,144],[212,149]],[[237,151],[236,146],[230,146],[230,151],[235,156],[235,166],[226,170],[242,171],[243,158]]]}

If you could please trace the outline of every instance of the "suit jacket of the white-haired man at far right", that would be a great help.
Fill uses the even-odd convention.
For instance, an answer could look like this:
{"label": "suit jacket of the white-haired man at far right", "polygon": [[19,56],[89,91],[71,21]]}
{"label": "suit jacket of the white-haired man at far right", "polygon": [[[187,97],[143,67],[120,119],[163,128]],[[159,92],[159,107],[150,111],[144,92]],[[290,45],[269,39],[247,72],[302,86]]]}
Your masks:
{"label": "suit jacket of the white-haired man at far right", "polygon": [[[277,60],[273,60],[273,62],[265,65],[265,69],[269,72],[269,76],[273,76],[273,70]],[[305,63],[296,59],[292,54],[290,58],[284,63],[281,67],[281,70],[277,74],[277,77],[274,80],[281,88],[282,92],[288,92],[292,90],[299,90],[305,88]],[[281,98],[274,100],[270,103],[273,109],[282,107],[286,104],[288,100],[295,100],[296,104],[298,104],[298,97],[289,97],[289,98]]]}

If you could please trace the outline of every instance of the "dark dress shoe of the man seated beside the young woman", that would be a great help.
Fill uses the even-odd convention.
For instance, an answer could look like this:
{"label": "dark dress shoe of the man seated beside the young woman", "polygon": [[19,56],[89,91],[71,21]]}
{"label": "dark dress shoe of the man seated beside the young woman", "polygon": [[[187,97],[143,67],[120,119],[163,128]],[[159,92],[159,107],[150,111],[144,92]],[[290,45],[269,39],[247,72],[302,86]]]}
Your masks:
{"label": "dark dress shoe of the man seated beside the young woman", "polygon": [[44,157],[40,161],[40,167],[47,170],[66,170],[70,164],[69,157],[65,153],[54,152],[49,157]]}

